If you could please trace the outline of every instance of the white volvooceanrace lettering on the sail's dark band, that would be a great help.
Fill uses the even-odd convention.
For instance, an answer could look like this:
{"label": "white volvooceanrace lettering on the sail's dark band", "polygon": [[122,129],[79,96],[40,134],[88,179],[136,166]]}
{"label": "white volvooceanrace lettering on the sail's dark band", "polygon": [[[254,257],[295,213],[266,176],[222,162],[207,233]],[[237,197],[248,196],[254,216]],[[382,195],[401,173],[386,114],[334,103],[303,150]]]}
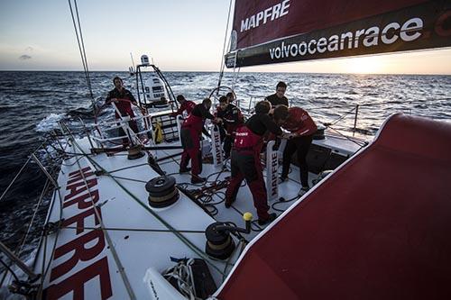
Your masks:
{"label": "white volvooceanrace lettering on the sail's dark band", "polygon": [[398,41],[415,41],[421,36],[423,20],[415,17],[405,23],[392,22],[382,29],[373,26],[355,32],[343,32],[327,37],[301,41],[297,43],[281,42],[278,47],[270,48],[271,59],[286,59],[304,55],[318,55],[318,53],[333,52],[340,50],[359,49],[362,47],[374,47],[380,43],[389,45]]}

